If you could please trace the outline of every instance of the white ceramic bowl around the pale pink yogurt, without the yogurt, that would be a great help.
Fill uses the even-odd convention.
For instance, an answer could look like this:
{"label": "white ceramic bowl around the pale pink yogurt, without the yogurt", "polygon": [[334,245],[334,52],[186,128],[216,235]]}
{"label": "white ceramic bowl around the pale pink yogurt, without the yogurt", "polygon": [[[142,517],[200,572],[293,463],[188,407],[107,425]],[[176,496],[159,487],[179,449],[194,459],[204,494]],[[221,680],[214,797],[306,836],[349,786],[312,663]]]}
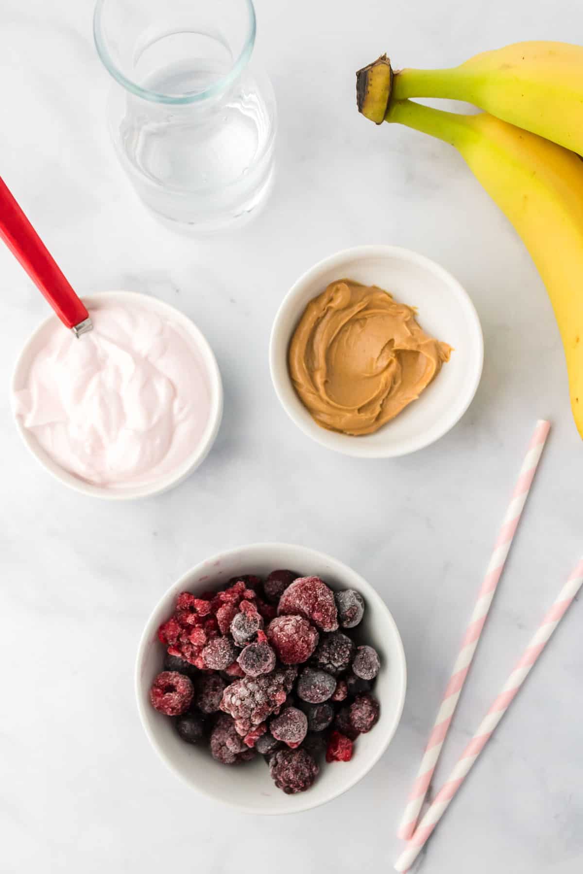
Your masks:
{"label": "white ceramic bowl around the pale pink yogurt, without the yogurt", "polygon": [[[172,489],[179,482],[186,479],[187,476],[191,475],[195,468],[198,468],[198,465],[205,460],[206,455],[209,453],[212,444],[219,433],[220,421],[223,415],[223,385],[220,378],[219,365],[217,364],[217,359],[214,357],[209,343],[207,343],[205,336],[202,335],[197,326],[191,322],[191,319],[184,316],[184,313],[174,309],[174,307],[170,307],[168,303],[159,301],[156,297],[140,295],[132,291],[103,291],[99,295],[92,295],[83,298],[83,302],[90,311],[92,307],[103,301],[125,303],[128,307],[130,307],[132,303],[135,305],[139,304],[143,309],[151,309],[153,312],[171,319],[173,323],[180,325],[188,336],[191,337],[193,347],[196,352],[198,352],[199,361],[205,368],[211,396],[211,412],[209,414],[209,420],[206,423],[205,431],[202,434],[198,445],[193,449],[191,455],[179,468],[166,476],[160,477],[155,482],[146,485],[128,486],[123,489],[106,489],[101,486],[93,485],[90,482],[84,482],[78,476],[70,474],[67,470],[61,468],[56,461],[53,461],[52,458],[45,453],[45,450],[39,446],[34,435],[22,425],[22,422],[20,422],[15,415],[17,430],[24,440],[24,445],[30,449],[31,454],[34,455],[36,460],[39,461],[40,464],[49,471],[49,473],[55,476],[59,482],[63,482],[70,489],[74,489],[82,495],[108,498],[109,500],[115,501],[132,500],[139,497],[159,495],[161,492]],[[18,356],[12,377],[12,397],[14,397],[14,392],[22,388],[24,385],[24,379],[26,378],[31,356],[42,346],[46,333],[52,330],[52,326],[57,321],[57,316],[49,316],[45,319],[45,322],[38,326],[24,344],[24,348]],[[66,330],[66,328],[63,328],[63,330]],[[80,343],[82,342],[83,338],[81,337]]]}

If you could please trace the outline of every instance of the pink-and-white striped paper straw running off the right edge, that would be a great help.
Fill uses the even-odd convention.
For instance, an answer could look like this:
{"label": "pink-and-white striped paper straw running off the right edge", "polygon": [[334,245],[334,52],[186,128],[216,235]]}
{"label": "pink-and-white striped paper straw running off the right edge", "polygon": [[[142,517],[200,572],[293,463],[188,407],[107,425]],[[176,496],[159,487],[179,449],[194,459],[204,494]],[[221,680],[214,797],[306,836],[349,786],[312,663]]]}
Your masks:
{"label": "pink-and-white striped paper straw running off the right edge", "polygon": [[435,801],[428,808],[426,815],[421,820],[413,837],[407,843],[405,850],[399,856],[395,864],[396,871],[407,871],[419,856],[421,847],[426,843],[427,838],[431,835],[437,823],[441,820],[441,816],[448,809],[449,802],[454,797],[457,790],[462,786],[462,782],[478,758],[482,749],[486,746],[489,738],[492,736],[496,725],[503,718],[504,713],[510,707],[510,704],[520,689],[524,680],[529,675],[532,665],[537,661],[538,656],[545,649],[545,644],[552,635],[552,632],[559,625],[559,621],[566,613],[567,607],[573,601],[573,598],[578,593],[581,584],[583,584],[583,558],[574,568],[571,576],[567,579],[565,586],[559,592],[557,600],[555,600],[549,612],[545,615],[545,619],[538,627],[538,631],[531,638],[531,642],[524,650],[523,655],[517,662],[516,668],[510,674],[508,680],[503,686],[494,704],[490,707],[486,716],[475,732],[474,737],[468,743],[468,746],[462,753],[461,758],[455,765],[454,770],[449,774],[448,780],[444,783],[439,793],[435,797]]}

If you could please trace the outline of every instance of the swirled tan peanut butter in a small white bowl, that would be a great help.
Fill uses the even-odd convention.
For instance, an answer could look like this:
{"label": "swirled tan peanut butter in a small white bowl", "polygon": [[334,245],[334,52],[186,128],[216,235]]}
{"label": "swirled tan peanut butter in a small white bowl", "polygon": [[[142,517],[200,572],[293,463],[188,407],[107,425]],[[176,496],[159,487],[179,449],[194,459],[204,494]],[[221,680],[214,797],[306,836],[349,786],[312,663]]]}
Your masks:
{"label": "swirled tan peanut butter in a small white bowl", "polygon": [[289,346],[289,373],[318,425],[372,434],[394,419],[448,361],[415,310],[377,286],[331,282],[303,312]]}

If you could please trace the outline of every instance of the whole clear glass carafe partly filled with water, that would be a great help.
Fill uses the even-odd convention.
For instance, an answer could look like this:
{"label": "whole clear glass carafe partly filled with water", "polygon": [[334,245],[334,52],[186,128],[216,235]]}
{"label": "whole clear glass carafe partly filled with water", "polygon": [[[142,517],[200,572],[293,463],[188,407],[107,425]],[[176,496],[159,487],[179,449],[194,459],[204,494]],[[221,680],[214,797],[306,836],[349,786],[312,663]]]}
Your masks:
{"label": "whole clear glass carafe partly filled with water", "polygon": [[109,126],[158,217],[213,230],[265,200],[275,100],[249,60],[251,0],[98,0],[97,52],[115,79]]}

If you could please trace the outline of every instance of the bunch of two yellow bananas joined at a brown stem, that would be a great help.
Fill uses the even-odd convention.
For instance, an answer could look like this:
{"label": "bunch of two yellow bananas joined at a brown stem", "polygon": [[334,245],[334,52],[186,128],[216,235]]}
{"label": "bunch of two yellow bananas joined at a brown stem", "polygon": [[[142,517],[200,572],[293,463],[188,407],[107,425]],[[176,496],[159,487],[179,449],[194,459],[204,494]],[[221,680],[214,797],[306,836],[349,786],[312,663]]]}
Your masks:
{"label": "bunch of two yellow bananas joined at a brown stem", "polygon": [[[468,101],[477,115],[411,97]],[[559,324],[583,438],[583,47],[508,45],[446,70],[393,73],[386,55],[357,73],[358,109],[455,146],[531,253]]]}

